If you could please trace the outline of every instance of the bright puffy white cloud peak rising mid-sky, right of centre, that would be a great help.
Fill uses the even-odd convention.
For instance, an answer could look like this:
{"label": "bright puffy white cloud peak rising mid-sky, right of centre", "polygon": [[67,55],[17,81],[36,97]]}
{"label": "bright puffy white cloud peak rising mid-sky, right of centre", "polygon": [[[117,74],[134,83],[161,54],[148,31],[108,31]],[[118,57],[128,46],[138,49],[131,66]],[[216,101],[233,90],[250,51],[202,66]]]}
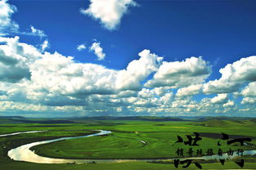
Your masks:
{"label": "bright puffy white cloud peak rising mid-sky, right of centre", "polygon": [[163,57],[159,57],[149,50],[143,50],[139,54],[139,60],[132,60],[126,69],[120,70],[115,85],[118,89],[141,88],[141,81],[147,78],[152,72],[157,71]]}

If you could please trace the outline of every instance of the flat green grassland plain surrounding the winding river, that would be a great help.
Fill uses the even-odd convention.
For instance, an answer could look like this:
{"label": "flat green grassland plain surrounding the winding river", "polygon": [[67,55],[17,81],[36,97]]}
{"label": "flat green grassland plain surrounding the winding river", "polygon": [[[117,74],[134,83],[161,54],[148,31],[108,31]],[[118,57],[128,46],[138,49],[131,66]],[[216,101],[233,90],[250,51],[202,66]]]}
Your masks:
{"label": "flat green grassland plain surrounding the winding river", "polygon": [[[106,120],[104,120],[106,119]],[[256,145],[255,119],[170,119],[170,118],[90,118],[90,119],[0,119],[0,133],[48,130],[48,132],[20,134],[17,136],[0,137],[0,169],[176,169],[173,163],[84,163],[84,164],[39,164],[24,163],[10,160],[7,151],[16,146],[33,141],[56,139],[60,136],[83,136],[92,133],[94,129],[110,130],[107,136],[93,136],[67,141],[58,141],[52,144],[34,146],[36,153],[52,158],[67,159],[156,159],[173,158],[177,148],[183,148],[184,154],[191,147],[183,143],[175,144],[177,135],[186,141],[186,135],[199,132],[203,138],[198,141],[200,146],[193,150],[202,149],[204,154],[209,149],[213,153],[218,151],[218,140],[221,133],[227,133],[231,138],[250,137],[251,143]],[[129,119],[129,120],[127,120]],[[1,123],[2,122],[2,123]],[[146,145],[141,141],[146,141]],[[255,146],[227,146],[221,142],[222,150],[256,150]],[[238,143],[236,143],[238,144]],[[195,153],[194,153],[195,154]],[[224,166],[212,161],[202,163],[204,169],[227,169],[240,167],[232,161]],[[245,157],[245,168],[256,169],[255,156]],[[191,164],[190,168],[195,169]]]}

